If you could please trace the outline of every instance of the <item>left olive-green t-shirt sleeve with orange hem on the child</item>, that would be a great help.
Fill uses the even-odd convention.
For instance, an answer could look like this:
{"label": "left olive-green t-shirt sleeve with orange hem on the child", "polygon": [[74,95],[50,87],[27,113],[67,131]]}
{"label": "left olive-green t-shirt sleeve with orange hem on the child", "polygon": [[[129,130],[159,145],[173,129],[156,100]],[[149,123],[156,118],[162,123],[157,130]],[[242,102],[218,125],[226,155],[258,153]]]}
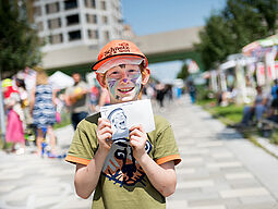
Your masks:
{"label": "left olive-green t-shirt sleeve with orange hem on the child", "polygon": [[97,150],[96,125],[83,120],[73,136],[65,161],[87,165]]}

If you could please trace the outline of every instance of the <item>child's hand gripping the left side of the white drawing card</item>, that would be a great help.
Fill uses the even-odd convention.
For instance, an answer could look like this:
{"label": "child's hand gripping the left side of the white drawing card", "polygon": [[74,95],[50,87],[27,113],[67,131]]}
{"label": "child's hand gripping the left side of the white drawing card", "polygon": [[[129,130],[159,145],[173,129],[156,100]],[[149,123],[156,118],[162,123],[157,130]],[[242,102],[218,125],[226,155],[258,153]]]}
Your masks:
{"label": "child's hand gripping the left side of the white drawing card", "polygon": [[97,138],[99,143],[99,149],[109,151],[112,145],[112,130],[111,123],[107,119],[98,119],[97,125]]}

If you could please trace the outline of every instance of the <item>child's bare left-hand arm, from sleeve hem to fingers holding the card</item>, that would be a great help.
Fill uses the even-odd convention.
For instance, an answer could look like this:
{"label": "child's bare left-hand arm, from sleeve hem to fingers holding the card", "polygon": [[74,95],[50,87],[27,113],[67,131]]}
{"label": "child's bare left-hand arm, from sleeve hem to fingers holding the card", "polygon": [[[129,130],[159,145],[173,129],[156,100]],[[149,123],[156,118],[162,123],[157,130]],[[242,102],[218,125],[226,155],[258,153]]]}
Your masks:
{"label": "child's bare left-hand arm, from sleeve hem to fingers holding the card", "polygon": [[111,137],[110,122],[107,119],[98,119],[97,138],[99,147],[87,165],[76,164],[74,176],[76,194],[84,199],[88,198],[97,186],[105,159],[112,144]]}

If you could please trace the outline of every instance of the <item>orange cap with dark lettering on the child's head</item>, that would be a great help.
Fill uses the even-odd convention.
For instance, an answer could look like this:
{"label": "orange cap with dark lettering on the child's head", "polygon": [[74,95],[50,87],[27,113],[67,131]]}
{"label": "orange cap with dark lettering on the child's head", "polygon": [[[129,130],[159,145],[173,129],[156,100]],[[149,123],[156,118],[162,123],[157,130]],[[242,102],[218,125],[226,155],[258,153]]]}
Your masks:
{"label": "orange cap with dark lettering on the child's head", "polygon": [[[111,40],[98,53],[97,62],[92,66],[97,71],[102,64],[119,57],[134,57],[144,60],[144,66],[147,66],[147,58],[140,51],[133,42],[129,40]],[[107,69],[109,70],[109,69]]]}

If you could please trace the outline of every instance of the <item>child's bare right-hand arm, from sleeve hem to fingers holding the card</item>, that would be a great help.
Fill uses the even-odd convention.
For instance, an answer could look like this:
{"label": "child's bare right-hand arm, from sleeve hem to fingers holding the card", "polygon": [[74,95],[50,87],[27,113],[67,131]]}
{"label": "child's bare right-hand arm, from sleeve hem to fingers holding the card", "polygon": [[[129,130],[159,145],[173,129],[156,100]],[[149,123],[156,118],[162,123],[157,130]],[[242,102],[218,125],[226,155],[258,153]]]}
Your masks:
{"label": "child's bare right-hand arm, from sleeve hem to fingers holding the card", "polygon": [[147,135],[141,125],[133,126],[130,133],[133,155],[145,171],[153,186],[165,197],[170,196],[176,190],[177,176],[174,162],[169,161],[157,164],[145,151]]}

